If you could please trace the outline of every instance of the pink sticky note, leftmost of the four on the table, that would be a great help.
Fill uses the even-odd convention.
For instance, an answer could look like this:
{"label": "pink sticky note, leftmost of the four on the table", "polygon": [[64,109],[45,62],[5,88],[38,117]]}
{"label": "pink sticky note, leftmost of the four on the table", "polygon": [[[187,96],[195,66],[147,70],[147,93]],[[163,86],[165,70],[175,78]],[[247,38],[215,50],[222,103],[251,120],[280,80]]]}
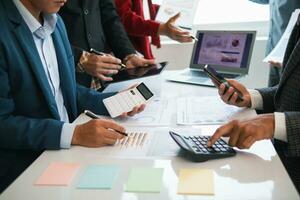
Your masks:
{"label": "pink sticky note, leftmost of the four on the table", "polygon": [[35,182],[35,185],[67,186],[72,182],[79,167],[80,165],[75,163],[51,163]]}

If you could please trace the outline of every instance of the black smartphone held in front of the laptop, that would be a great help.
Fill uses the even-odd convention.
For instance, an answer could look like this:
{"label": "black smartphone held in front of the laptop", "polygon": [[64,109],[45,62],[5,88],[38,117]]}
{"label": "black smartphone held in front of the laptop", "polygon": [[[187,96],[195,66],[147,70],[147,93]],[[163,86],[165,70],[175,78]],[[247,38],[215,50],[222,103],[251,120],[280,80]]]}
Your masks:
{"label": "black smartphone held in front of the laptop", "polygon": [[205,65],[204,71],[206,74],[218,85],[220,86],[222,83],[225,85],[225,92],[229,89],[229,87],[233,87],[235,92],[238,94],[237,101],[244,101],[243,94],[236,89],[233,85],[231,85],[221,74],[219,74],[214,68],[209,65]]}

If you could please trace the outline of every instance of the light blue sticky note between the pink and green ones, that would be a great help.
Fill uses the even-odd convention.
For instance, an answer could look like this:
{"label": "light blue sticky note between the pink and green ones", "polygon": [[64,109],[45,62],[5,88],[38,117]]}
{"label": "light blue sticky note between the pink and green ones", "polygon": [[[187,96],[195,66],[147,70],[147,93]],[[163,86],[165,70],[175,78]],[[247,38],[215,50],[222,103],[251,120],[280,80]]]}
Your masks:
{"label": "light blue sticky note between the pink and green ones", "polygon": [[79,180],[77,188],[111,189],[119,173],[119,167],[113,165],[91,165]]}

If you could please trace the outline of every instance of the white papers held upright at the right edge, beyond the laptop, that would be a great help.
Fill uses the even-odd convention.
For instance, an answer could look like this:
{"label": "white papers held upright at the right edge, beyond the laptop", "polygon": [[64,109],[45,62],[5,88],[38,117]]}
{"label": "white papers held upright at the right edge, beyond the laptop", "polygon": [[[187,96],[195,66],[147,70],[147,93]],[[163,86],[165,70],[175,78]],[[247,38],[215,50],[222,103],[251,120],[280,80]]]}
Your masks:
{"label": "white papers held upright at the right edge, beyond the laptop", "polygon": [[285,54],[285,50],[287,48],[287,44],[289,38],[291,36],[292,30],[297,22],[298,16],[300,14],[300,9],[297,9],[293,12],[290,21],[288,23],[287,28],[285,29],[281,39],[274,47],[274,49],[267,55],[267,57],[263,60],[263,62],[275,61],[283,63],[283,58]]}

